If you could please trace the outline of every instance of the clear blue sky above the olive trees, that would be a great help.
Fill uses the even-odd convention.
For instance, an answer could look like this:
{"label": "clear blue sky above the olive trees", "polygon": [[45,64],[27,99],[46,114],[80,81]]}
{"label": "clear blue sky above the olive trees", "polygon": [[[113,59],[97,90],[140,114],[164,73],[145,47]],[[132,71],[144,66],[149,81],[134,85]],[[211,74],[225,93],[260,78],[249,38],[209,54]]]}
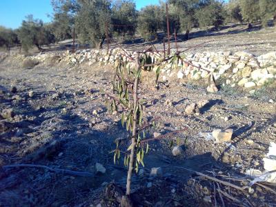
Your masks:
{"label": "clear blue sky above the olive trees", "polygon": [[[159,0],[135,1],[137,10],[149,4],[157,4]],[[35,19],[50,21],[48,14],[52,13],[50,0],[0,0],[0,26],[18,28],[28,14]]]}

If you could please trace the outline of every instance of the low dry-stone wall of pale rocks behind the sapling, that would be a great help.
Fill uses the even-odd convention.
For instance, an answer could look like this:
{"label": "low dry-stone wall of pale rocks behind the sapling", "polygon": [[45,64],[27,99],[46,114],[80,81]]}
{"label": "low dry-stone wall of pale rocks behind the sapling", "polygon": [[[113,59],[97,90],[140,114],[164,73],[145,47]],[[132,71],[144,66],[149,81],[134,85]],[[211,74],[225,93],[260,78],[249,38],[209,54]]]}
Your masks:
{"label": "low dry-stone wall of pale rocks behind the sapling", "polygon": [[[135,52],[128,52],[135,58]],[[163,55],[157,52],[148,53],[155,57],[155,61],[163,59]],[[33,57],[22,57],[37,59],[41,62],[49,58],[56,57],[58,54],[45,53]],[[81,63],[115,64],[119,57],[127,61],[130,66],[134,63],[126,55],[126,50],[115,48],[107,52],[106,50],[82,50],[72,54],[69,51],[59,54],[59,61],[77,66]],[[172,63],[164,62],[161,64],[161,76],[166,80],[168,77],[176,76],[179,79],[206,79],[213,73],[215,80],[224,79],[226,85],[231,87],[241,86],[244,88],[258,88],[276,79],[276,52],[269,52],[259,57],[255,57],[248,52],[202,52],[196,54],[181,55],[185,63],[172,66]],[[172,70],[172,68],[174,68]],[[154,68],[156,70],[157,67]]]}

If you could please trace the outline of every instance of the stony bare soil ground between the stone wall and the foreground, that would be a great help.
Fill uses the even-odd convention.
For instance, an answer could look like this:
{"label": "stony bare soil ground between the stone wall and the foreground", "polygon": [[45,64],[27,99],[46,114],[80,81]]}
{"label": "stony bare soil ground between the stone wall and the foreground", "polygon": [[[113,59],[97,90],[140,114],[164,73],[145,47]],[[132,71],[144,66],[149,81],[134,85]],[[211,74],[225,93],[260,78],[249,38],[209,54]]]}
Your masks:
{"label": "stony bare soil ground between the stone wall and the foreground", "polygon": [[[114,164],[110,152],[128,133],[106,105],[113,72],[99,63],[26,69],[12,57],[1,61],[0,206],[119,205],[126,168],[124,157]],[[206,86],[170,77],[157,90],[144,79],[145,119],[159,123],[147,137],[177,133],[150,143],[132,179],[135,206],[275,206],[275,184],[251,186],[248,175],[264,172],[276,139],[275,88],[250,95],[219,83],[208,93]],[[229,128],[230,140],[211,136]]]}

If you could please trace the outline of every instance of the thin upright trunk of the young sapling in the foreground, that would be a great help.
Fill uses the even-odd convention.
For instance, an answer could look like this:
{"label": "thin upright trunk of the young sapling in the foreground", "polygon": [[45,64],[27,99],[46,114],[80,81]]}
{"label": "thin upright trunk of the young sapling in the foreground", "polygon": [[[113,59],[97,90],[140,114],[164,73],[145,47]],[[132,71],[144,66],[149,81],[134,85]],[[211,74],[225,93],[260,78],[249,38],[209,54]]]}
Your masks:
{"label": "thin upright trunk of the young sapling in the foreground", "polygon": [[[137,53],[136,56],[136,70],[137,72],[141,70],[139,66],[139,53]],[[127,203],[128,205],[132,206],[131,200],[130,200],[130,184],[131,184],[131,176],[132,176],[132,170],[134,165],[134,155],[135,155],[135,146],[136,146],[136,139],[137,139],[137,92],[138,92],[138,84],[139,84],[139,77],[135,77],[134,82],[134,88],[133,88],[133,124],[132,124],[132,139],[131,139],[131,152],[130,152],[130,163],[128,167],[128,178],[126,180],[126,197],[124,197],[124,203]],[[121,203],[123,206],[123,202]]]}

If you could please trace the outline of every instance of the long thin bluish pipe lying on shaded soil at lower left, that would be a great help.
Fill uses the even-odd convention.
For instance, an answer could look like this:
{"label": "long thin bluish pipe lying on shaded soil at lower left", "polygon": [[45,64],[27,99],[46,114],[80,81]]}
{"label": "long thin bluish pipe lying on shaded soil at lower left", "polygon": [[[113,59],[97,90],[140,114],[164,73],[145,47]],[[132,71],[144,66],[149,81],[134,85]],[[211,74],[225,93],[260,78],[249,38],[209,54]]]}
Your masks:
{"label": "long thin bluish pipe lying on shaded soil at lower left", "polygon": [[77,172],[72,170],[65,170],[61,168],[50,168],[48,166],[41,166],[41,165],[34,165],[34,164],[14,164],[3,166],[3,168],[44,168],[50,170],[52,172],[57,172],[61,174],[73,175],[73,176],[80,176],[80,177],[94,177],[94,175],[90,172]]}

